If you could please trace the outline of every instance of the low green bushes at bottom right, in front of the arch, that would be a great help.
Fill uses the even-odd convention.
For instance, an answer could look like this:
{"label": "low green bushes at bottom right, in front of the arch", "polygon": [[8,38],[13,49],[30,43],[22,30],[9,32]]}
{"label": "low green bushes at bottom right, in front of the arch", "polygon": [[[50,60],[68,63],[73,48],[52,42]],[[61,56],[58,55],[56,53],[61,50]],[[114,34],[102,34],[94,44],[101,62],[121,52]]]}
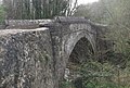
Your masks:
{"label": "low green bushes at bottom right, in front of the arch", "polygon": [[[129,88],[130,77],[126,70],[110,64],[101,64],[96,61],[89,61],[81,65],[80,75],[83,79],[83,88]],[[126,83],[127,81],[127,83]]]}

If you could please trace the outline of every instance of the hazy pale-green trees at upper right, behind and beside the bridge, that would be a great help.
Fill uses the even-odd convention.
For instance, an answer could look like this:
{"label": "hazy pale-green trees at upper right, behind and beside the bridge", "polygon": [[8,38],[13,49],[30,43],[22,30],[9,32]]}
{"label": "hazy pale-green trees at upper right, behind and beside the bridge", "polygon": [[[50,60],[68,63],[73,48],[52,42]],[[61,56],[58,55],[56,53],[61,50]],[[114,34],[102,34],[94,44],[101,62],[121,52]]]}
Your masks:
{"label": "hazy pale-green trees at upper right, behind and beside the bridge", "polygon": [[[130,0],[100,0],[99,2],[80,5],[76,10],[76,16],[86,16],[91,21],[108,24],[106,40],[114,42],[113,59],[130,60]],[[118,53],[115,56],[115,53]],[[122,55],[122,56],[121,56]],[[113,60],[115,61],[115,60]],[[115,62],[114,62],[115,63]],[[118,63],[118,61],[117,61]]]}

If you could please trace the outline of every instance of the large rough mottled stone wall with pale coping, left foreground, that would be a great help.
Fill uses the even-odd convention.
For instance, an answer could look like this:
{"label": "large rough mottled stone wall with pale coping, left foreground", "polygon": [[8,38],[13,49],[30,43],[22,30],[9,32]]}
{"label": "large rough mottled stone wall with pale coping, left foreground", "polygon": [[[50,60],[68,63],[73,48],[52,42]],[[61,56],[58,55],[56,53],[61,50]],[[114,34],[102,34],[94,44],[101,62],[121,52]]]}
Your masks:
{"label": "large rough mottled stone wall with pale coping, left foreground", "polygon": [[0,88],[53,88],[53,56],[48,28],[3,30],[0,35]]}

